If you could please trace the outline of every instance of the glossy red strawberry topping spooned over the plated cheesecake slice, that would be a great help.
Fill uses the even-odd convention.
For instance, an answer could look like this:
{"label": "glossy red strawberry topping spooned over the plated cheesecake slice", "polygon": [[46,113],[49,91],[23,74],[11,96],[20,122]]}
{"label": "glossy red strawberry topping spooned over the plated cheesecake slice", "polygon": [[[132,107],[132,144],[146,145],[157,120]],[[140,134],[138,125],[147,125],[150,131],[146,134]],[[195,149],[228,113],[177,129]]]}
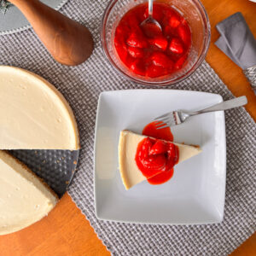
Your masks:
{"label": "glossy red strawberry topping spooned over the plated cheesecake slice", "polygon": [[155,123],[150,123],[143,129],[143,135],[149,137],[137,146],[137,166],[148,178],[148,183],[166,183],[173,175],[173,166],[178,162],[178,148],[171,143],[172,132],[169,127],[156,130]]}

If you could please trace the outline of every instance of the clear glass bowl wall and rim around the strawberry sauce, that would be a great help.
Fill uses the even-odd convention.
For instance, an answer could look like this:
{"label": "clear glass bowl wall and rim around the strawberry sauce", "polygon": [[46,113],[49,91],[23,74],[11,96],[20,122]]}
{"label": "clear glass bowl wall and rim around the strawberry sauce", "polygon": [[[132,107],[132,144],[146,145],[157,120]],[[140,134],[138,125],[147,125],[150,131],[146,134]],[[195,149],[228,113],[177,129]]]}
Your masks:
{"label": "clear glass bowl wall and rim around the strawberry sauce", "polygon": [[115,67],[119,73],[137,84],[145,85],[170,85],[186,79],[207,55],[207,49],[210,43],[211,30],[207,12],[199,0],[165,0],[157,1],[168,3],[176,9],[189,22],[192,32],[192,44],[187,61],[183,67],[175,73],[162,76],[160,78],[150,79],[132,73],[125,64],[120,61],[119,55],[114,47],[114,33],[119,24],[119,20],[125,13],[140,3],[148,3],[147,0],[111,0],[102,18],[101,41],[104,54],[108,61]]}

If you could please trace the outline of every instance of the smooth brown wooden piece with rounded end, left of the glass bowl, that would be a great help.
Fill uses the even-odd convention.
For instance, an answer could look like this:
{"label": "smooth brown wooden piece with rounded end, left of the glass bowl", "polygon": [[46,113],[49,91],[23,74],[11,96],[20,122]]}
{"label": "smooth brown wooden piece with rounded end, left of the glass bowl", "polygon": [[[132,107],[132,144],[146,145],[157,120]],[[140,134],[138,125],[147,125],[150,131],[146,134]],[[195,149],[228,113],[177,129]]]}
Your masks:
{"label": "smooth brown wooden piece with rounded end, left of the glass bowl", "polygon": [[89,30],[38,0],[9,0],[20,9],[46,49],[61,64],[79,65],[92,53]]}

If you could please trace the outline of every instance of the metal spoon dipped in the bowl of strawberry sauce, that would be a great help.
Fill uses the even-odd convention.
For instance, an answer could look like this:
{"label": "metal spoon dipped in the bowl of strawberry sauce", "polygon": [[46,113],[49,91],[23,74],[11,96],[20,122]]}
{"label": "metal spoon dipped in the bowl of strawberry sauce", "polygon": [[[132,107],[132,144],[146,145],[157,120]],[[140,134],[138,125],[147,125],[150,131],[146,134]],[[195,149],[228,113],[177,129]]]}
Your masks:
{"label": "metal spoon dipped in the bowl of strawberry sauce", "polygon": [[148,18],[143,20],[141,27],[149,38],[162,32],[159,22],[153,18],[153,0],[148,0]]}

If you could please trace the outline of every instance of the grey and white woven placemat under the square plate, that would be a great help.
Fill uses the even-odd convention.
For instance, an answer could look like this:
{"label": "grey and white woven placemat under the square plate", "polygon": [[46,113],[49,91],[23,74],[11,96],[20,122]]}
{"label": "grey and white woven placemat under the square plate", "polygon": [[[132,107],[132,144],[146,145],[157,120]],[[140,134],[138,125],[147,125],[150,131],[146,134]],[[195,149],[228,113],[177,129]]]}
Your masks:
{"label": "grey and white woven placemat under the square plate", "polygon": [[[64,67],[51,59],[32,30],[0,37],[0,64],[26,68],[61,90],[79,123],[79,170],[69,189],[97,235],[113,255],[227,255],[255,230],[255,123],[244,108],[227,111],[227,186],[221,224],[171,226],[119,224],[98,221],[93,193],[93,140],[97,98],[102,90],[139,88],[113,71],[102,55],[100,21],[108,1],[70,1],[63,13],[84,23],[93,33],[96,49],[79,67]],[[232,94],[204,62],[194,75],[172,86],[180,90]],[[86,242],[86,241],[83,241]]]}

